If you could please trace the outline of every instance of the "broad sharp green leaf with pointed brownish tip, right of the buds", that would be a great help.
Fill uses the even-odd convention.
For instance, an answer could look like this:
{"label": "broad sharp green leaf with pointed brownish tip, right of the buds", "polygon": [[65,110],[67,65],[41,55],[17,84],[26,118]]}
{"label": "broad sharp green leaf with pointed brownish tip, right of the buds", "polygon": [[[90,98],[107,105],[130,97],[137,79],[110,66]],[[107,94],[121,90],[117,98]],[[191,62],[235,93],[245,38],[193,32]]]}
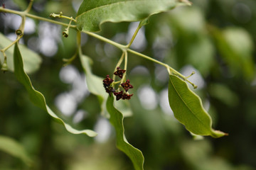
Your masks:
{"label": "broad sharp green leaf with pointed brownish tip, right of the buds", "polygon": [[169,104],[175,118],[193,134],[212,137],[227,135],[211,128],[212,120],[203,108],[201,98],[188,88],[185,81],[175,75],[170,75],[169,79]]}

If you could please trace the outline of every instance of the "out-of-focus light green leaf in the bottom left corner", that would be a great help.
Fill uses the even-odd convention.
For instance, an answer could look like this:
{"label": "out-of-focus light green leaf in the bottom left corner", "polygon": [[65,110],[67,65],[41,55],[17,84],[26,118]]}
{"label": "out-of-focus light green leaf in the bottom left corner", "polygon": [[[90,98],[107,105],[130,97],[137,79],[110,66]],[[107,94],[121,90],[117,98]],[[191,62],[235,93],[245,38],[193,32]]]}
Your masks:
{"label": "out-of-focus light green leaf in the bottom left corner", "polygon": [[31,158],[28,157],[28,153],[23,146],[11,137],[0,135],[0,150],[21,159],[28,165],[32,163]]}

